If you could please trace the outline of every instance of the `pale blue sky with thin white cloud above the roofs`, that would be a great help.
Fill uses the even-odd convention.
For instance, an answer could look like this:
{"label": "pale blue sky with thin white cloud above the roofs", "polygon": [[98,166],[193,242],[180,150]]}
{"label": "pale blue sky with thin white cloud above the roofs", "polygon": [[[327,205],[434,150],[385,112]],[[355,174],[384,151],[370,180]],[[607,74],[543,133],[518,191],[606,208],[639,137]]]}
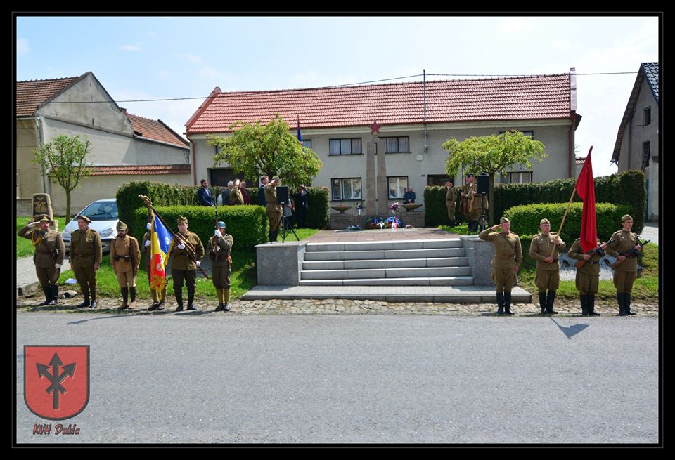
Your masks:
{"label": "pale blue sky with thin white cloud above the roofs", "polygon": [[[205,98],[421,74],[637,72],[658,55],[655,17],[17,18],[19,81],[94,72],[115,100]],[[460,77],[429,77],[456,79]],[[474,77],[475,78],[475,77]],[[579,154],[610,164],[636,74],[579,75]],[[420,77],[416,77],[420,80]],[[403,80],[397,80],[403,81]],[[184,133],[202,100],[118,103]]]}

